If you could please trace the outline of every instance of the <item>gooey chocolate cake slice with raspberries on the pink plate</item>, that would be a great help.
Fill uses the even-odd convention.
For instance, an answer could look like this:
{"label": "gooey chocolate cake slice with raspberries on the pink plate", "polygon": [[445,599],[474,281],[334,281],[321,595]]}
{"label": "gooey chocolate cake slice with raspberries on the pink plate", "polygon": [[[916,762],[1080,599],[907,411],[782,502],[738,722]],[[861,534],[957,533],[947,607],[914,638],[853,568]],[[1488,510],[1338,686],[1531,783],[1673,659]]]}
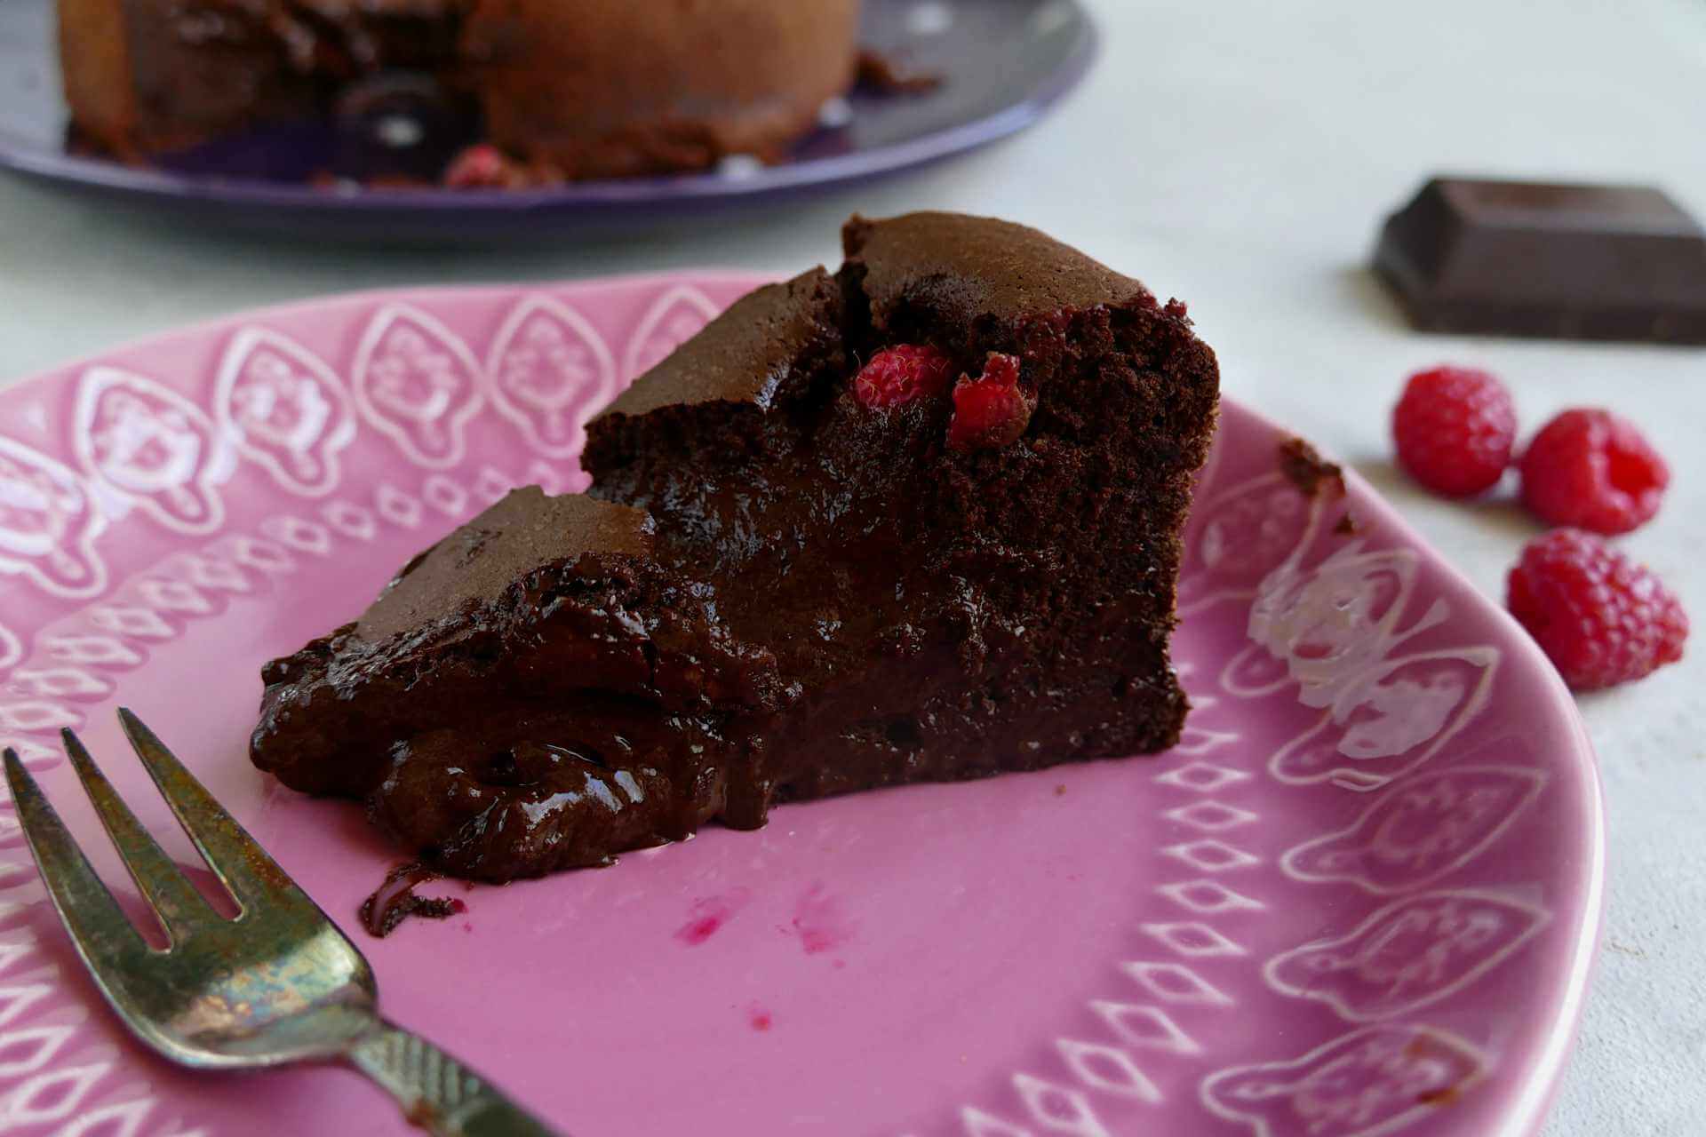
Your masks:
{"label": "gooey chocolate cake slice with raspberries on the pink plate", "polygon": [[1215,356],[1005,222],[853,218],[264,670],[252,760],[508,880],[783,801],[1163,750]]}

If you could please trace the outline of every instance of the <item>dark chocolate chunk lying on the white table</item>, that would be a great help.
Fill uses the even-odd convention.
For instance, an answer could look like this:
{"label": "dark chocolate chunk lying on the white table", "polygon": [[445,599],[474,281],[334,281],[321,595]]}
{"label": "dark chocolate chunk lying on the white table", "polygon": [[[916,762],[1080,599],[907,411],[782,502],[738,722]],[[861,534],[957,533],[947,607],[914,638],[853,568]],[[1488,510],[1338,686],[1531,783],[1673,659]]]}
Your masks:
{"label": "dark chocolate chunk lying on the white table", "polygon": [[1706,234],[1645,186],[1436,177],[1375,271],[1421,331],[1706,343]]}

